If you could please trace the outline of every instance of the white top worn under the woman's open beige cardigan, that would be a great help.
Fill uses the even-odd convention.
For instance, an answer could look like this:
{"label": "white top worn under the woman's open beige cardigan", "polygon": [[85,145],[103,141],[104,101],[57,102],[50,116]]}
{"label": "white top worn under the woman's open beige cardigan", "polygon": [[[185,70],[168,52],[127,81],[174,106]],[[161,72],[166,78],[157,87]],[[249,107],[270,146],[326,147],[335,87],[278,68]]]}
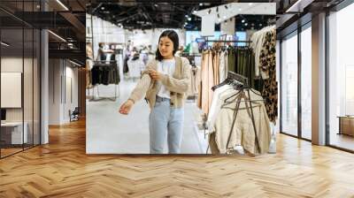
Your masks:
{"label": "white top worn under the woman's open beige cardigan", "polygon": [[[168,76],[172,77],[175,65],[176,65],[176,61],[174,60],[174,58],[158,61],[158,72],[167,74]],[[160,90],[158,91],[158,96],[171,98],[170,91],[166,89],[164,85],[161,85]]]}

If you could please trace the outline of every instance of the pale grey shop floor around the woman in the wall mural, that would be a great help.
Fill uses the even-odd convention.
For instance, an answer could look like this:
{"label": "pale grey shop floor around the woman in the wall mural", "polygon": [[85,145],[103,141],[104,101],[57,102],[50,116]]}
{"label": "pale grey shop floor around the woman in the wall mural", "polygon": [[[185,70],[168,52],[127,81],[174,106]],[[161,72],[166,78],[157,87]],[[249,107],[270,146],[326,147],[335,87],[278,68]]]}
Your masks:
{"label": "pale grey shop floor around the woman in the wall mural", "polygon": [[[149,106],[142,100],[135,104],[128,116],[119,114],[119,105],[135,88],[136,80],[122,80],[119,99],[87,102],[87,151],[89,154],[149,154]],[[99,95],[113,96],[114,85],[99,86]],[[96,88],[94,93],[97,96]],[[90,92],[92,94],[92,91]],[[196,103],[186,103],[181,153],[203,154],[204,138],[196,132]],[[165,149],[166,150],[166,149]]]}

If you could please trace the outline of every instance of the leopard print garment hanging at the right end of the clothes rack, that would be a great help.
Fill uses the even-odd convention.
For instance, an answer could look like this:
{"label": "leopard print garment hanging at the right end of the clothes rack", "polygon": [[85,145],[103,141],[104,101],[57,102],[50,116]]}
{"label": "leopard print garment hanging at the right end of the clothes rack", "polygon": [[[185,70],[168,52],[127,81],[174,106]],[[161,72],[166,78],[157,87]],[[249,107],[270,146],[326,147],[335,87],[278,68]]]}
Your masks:
{"label": "leopard print garment hanging at the right end of the clothes rack", "polygon": [[276,33],[275,29],[266,33],[259,56],[259,69],[264,79],[262,96],[266,100],[266,112],[275,124],[278,117],[278,83],[276,81],[275,60]]}

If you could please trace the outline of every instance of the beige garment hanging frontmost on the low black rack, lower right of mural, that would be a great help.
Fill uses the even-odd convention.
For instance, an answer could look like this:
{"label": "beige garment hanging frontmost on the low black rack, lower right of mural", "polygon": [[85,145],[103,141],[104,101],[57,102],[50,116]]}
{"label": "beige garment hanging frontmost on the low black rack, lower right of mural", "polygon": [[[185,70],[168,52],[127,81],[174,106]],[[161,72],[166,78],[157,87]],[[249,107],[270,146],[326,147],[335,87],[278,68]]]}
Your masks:
{"label": "beige garment hanging frontmost on the low black rack, lower right of mural", "polygon": [[[220,97],[219,103],[224,103],[224,100],[227,98],[227,96],[228,95]],[[250,92],[250,98],[252,100],[262,99],[261,96],[256,95],[253,92]],[[227,103],[223,105],[221,110],[219,110],[219,114],[215,120],[214,127],[212,127],[210,132],[211,144],[215,143],[217,145],[216,148],[211,147],[212,153],[227,152],[227,139],[232,128],[235,104],[236,103]],[[271,128],[269,126],[269,118],[266,114],[266,107],[263,102],[252,103],[252,110],[255,118],[255,125],[258,133],[258,142],[260,148],[260,153],[258,153],[250,108],[247,108],[249,107],[249,104],[250,103],[247,103],[246,105],[244,102],[240,103],[240,109],[235,119],[235,125],[228,144],[228,148],[233,148],[235,145],[242,145],[245,150],[252,154],[266,153],[268,151],[269,143],[271,140]],[[214,134],[212,135],[212,133]]]}

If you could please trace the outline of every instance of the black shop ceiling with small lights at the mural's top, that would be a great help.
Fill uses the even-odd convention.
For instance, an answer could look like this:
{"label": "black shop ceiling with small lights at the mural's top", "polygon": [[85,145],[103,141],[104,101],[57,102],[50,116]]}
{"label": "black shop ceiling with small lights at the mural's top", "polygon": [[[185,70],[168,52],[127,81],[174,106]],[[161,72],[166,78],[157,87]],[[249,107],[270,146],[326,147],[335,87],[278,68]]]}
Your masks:
{"label": "black shop ceiling with small lights at the mural's top", "polygon": [[[142,1],[140,1],[142,2]],[[194,11],[212,8],[235,1],[174,1],[178,3],[139,3],[139,1],[96,1],[89,4],[87,11],[101,19],[107,20],[116,26],[125,29],[150,28],[185,28],[187,30],[200,30],[201,18],[193,14]],[[189,2],[187,4],[186,2]],[[199,3],[200,2],[200,3]],[[254,2],[254,1],[238,1]],[[269,1],[258,1],[268,3]],[[266,26],[269,16],[242,15],[236,17],[236,30]],[[242,23],[247,19],[248,26]],[[219,27],[216,27],[217,30]]]}

